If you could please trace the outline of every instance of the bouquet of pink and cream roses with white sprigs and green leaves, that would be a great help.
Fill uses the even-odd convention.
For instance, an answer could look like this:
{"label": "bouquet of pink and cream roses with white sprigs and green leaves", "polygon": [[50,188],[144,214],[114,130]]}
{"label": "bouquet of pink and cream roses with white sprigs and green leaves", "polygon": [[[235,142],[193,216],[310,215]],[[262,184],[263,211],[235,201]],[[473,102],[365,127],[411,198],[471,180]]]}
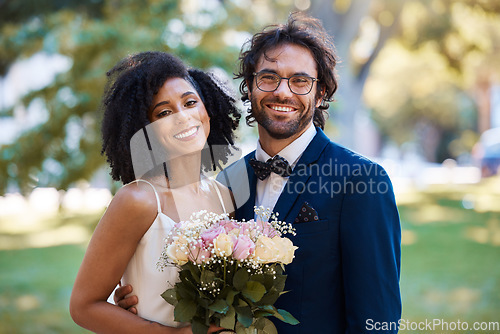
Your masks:
{"label": "bouquet of pink and cream roses with white sprigs and green leaves", "polygon": [[257,220],[240,222],[201,211],[166,238],[158,267],[178,266],[180,281],[162,297],[175,306],[175,320],[190,322],[194,334],[206,334],[210,324],[236,333],[277,333],[270,316],[298,323],[274,306],[285,293],[284,265],[297,249],[283,235],[294,229],[268,209],[255,212]]}

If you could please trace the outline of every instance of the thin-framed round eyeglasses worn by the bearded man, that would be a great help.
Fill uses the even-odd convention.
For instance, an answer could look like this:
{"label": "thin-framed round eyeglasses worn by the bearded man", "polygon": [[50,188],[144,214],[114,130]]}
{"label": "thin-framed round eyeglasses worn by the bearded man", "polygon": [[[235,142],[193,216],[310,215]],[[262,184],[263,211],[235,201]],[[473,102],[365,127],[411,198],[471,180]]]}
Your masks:
{"label": "thin-framed round eyeglasses worn by the bearded man", "polygon": [[289,78],[285,78],[276,73],[266,71],[254,72],[253,75],[255,76],[257,88],[263,92],[274,92],[281,84],[281,80],[286,79],[288,80],[288,88],[290,88],[292,93],[306,95],[311,91],[314,81],[318,81],[318,79],[308,75],[292,75]]}

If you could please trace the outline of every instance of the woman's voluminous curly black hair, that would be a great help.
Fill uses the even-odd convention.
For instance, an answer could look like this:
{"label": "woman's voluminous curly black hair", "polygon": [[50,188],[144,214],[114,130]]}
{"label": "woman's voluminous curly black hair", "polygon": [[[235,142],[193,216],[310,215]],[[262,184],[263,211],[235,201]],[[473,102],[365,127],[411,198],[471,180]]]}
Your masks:
{"label": "woman's voluminous curly black hair", "polygon": [[[202,152],[203,170],[215,169],[220,162],[227,162],[241,114],[235,106],[235,98],[228,95],[214,77],[198,69],[188,69],[177,57],[159,51],[125,57],[107,76],[101,105],[104,113],[101,154],[106,155],[114,180],[126,184],[136,179],[130,140],[150,124],[148,111],[153,97],[171,78],[183,78],[193,85],[210,117],[207,139],[210,149]],[[224,146],[224,149],[212,150],[213,145]]]}

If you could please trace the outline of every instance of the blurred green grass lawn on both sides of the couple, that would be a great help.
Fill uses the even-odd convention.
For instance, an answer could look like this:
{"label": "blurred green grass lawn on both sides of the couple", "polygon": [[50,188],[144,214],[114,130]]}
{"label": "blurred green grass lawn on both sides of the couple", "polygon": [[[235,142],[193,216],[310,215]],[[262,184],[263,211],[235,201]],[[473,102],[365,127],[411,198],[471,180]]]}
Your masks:
{"label": "blurred green grass lawn on both sides of the couple", "polygon": [[[499,182],[398,195],[403,319],[500,321]],[[61,218],[61,224],[90,231],[97,219]],[[1,237],[6,240],[0,230]],[[87,333],[73,323],[68,311],[84,252],[85,243],[1,250],[0,334]]]}

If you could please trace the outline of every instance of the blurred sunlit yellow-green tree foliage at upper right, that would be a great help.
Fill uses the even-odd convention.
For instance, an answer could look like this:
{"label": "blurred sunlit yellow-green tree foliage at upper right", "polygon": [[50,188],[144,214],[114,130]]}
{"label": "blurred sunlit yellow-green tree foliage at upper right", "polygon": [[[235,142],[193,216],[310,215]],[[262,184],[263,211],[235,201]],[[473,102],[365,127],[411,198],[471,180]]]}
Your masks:
{"label": "blurred sunlit yellow-green tree foliage at upper right", "polygon": [[500,75],[497,3],[405,3],[399,30],[374,62],[364,92],[385,137],[418,143],[430,161],[471,151],[476,140],[468,138],[479,130],[477,92]]}

